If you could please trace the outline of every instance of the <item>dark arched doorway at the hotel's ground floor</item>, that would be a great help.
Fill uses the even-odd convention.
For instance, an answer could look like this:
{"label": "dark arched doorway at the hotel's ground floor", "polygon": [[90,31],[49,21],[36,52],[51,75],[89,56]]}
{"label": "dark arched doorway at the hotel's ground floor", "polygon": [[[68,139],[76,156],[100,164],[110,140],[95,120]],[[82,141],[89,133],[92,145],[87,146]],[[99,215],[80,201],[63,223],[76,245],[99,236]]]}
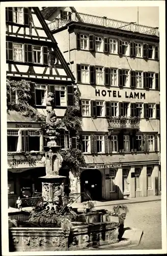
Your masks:
{"label": "dark arched doorway at the hotel's ground floor", "polygon": [[[100,200],[102,197],[102,177],[100,170],[88,169],[80,175],[81,201]],[[90,196],[88,196],[88,195]]]}

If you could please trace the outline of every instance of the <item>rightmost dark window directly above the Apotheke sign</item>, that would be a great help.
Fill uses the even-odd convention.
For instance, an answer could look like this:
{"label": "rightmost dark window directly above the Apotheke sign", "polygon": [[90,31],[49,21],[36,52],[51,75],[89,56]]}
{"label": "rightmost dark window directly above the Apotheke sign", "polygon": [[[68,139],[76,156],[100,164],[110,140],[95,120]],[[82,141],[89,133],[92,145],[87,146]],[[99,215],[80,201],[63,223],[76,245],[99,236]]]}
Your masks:
{"label": "rightmost dark window directly above the Apotheke sign", "polygon": [[29,131],[29,151],[40,151],[40,131]]}

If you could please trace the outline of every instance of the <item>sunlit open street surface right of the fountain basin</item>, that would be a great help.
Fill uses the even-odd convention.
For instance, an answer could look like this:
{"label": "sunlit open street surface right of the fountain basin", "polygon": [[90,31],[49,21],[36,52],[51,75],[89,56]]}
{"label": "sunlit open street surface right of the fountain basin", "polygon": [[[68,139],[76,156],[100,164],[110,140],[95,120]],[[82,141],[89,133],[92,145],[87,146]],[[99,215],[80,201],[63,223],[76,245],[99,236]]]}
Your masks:
{"label": "sunlit open street surface right of the fountain basin", "polygon": [[[161,249],[161,201],[126,205],[129,212],[125,220],[125,228],[133,227],[144,232],[140,245],[127,247],[127,250]],[[112,210],[113,206],[105,208]]]}

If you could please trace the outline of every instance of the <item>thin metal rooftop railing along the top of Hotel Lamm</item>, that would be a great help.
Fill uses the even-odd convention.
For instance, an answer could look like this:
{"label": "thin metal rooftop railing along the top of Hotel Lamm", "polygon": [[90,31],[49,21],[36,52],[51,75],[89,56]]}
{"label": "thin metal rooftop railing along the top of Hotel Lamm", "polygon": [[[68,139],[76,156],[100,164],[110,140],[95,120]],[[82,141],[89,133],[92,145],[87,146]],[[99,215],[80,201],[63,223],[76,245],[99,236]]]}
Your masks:
{"label": "thin metal rooftop railing along the top of Hotel Lamm", "polygon": [[136,24],[136,22],[123,22],[122,20],[117,19],[111,19],[107,17],[100,17],[96,15],[91,14],[85,14],[85,13],[72,13],[70,16],[64,16],[63,18],[56,18],[52,22],[48,23],[48,27],[50,30],[61,28],[62,26],[65,26],[71,20],[75,22],[82,22],[87,24],[93,24],[93,25],[99,25],[103,27],[109,27],[109,28],[115,28],[115,29],[121,29],[131,32],[138,32],[142,34],[147,35],[156,35],[158,34],[158,28],[144,26],[140,24]]}

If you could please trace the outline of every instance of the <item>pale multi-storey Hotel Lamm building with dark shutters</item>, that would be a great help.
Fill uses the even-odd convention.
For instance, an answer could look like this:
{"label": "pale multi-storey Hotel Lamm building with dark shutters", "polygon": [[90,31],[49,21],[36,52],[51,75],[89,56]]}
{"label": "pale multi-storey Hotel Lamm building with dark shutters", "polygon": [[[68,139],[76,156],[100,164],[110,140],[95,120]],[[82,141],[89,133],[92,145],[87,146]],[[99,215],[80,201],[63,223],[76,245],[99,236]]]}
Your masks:
{"label": "pale multi-storey Hotel Lamm building with dark shutters", "polygon": [[[81,95],[86,165],[74,191],[94,200],[158,195],[158,28],[43,8]],[[82,198],[88,200],[88,198]]]}

